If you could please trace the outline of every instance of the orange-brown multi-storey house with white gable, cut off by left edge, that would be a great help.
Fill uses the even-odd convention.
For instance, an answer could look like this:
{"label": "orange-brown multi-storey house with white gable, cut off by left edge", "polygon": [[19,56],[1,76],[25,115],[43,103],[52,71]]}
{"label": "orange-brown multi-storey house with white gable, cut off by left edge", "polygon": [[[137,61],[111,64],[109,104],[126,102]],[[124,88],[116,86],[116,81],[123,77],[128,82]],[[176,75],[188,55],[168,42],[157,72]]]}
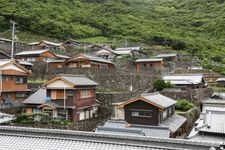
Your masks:
{"label": "orange-brown multi-storey house with white gable, cut off by left edge", "polygon": [[15,60],[0,60],[0,100],[23,101],[30,90],[27,86],[27,76],[30,71]]}

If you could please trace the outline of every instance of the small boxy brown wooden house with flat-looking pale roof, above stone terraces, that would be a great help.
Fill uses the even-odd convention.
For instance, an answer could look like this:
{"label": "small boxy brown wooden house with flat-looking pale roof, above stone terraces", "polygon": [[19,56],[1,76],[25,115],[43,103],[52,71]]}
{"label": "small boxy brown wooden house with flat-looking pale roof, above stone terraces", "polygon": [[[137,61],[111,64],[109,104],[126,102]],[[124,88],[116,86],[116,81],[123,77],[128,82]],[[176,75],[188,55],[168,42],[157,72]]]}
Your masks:
{"label": "small boxy brown wooden house with flat-looking pale roof, above stone terraces", "polygon": [[141,71],[149,69],[162,69],[164,63],[162,58],[145,58],[137,59],[134,64],[136,70]]}

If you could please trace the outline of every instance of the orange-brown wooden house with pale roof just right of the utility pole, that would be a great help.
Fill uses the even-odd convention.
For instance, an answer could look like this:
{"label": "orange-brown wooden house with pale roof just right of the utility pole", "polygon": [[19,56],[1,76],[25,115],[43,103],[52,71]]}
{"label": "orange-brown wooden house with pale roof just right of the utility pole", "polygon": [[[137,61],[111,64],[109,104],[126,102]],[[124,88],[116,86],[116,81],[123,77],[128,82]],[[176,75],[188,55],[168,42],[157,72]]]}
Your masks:
{"label": "orange-brown wooden house with pale roof just right of the utility pole", "polygon": [[23,52],[15,54],[15,58],[20,60],[26,60],[29,62],[47,61],[56,57],[57,56],[48,49],[23,51]]}

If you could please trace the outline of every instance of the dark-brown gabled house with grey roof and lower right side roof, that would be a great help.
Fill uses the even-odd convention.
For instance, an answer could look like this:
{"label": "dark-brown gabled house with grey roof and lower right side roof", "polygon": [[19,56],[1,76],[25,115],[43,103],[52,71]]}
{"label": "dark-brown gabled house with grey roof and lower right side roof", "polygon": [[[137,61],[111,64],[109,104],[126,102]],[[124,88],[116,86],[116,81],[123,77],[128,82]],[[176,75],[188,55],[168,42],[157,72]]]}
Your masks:
{"label": "dark-brown gabled house with grey roof and lower right side roof", "polygon": [[176,101],[160,93],[142,94],[114,105],[114,119],[125,120],[127,124],[167,127],[171,137],[184,132],[186,118],[175,113]]}

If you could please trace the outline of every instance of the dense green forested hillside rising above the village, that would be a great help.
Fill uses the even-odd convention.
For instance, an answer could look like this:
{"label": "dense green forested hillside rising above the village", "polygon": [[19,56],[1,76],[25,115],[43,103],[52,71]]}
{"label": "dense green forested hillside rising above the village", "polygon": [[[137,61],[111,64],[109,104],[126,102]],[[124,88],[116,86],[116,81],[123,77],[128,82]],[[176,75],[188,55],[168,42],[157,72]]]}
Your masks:
{"label": "dense green forested hillside rising above the village", "polygon": [[208,68],[225,63],[224,0],[1,0],[1,32],[10,20],[28,34],[169,45]]}

